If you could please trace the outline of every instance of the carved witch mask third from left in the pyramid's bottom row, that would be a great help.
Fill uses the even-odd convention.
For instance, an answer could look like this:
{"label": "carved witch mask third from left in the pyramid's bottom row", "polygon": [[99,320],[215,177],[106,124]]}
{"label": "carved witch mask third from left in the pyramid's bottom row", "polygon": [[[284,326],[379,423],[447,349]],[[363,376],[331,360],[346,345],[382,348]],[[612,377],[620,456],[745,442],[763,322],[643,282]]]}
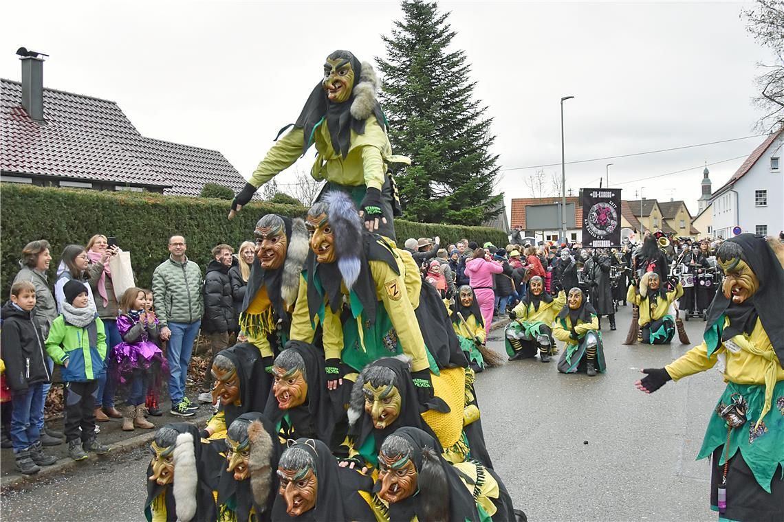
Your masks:
{"label": "carved witch mask third from left in the pyramid's bottom row", "polygon": [[313,456],[296,445],[281,455],[278,463],[278,494],[286,502],[289,517],[299,517],[316,506],[318,477]]}

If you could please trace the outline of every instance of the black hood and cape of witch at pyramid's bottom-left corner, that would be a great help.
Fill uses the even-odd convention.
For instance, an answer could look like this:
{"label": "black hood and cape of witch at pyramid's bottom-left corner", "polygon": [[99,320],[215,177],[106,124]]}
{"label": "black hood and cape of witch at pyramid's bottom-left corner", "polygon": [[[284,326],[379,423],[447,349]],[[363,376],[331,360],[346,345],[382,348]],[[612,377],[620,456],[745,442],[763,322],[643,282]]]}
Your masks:
{"label": "black hood and cape of witch at pyramid's bottom-left corner", "polygon": [[[189,433],[194,438],[194,456],[196,457],[196,473],[198,475],[198,485],[196,486],[196,514],[194,515],[193,522],[212,522],[216,520],[217,512],[215,506],[215,500],[212,496],[212,486],[209,484],[207,480],[208,477],[208,470],[205,467],[205,455],[202,455],[201,452],[201,435],[198,433],[198,428],[191,423],[169,423],[166,424],[165,427],[172,428],[176,430],[179,434]],[[145,477],[151,477],[152,475],[152,463],[147,465],[147,475]],[[176,473],[174,480],[177,480]],[[177,519],[177,505],[174,499],[174,490],[172,488],[172,484],[167,484],[165,486],[158,485],[155,481],[147,480],[147,499],[144,501],[144,511],[147,513],[147,509],[150,508],[150,505],[164,491],[166,491],[166,521],[167,522],[176,522]]]}

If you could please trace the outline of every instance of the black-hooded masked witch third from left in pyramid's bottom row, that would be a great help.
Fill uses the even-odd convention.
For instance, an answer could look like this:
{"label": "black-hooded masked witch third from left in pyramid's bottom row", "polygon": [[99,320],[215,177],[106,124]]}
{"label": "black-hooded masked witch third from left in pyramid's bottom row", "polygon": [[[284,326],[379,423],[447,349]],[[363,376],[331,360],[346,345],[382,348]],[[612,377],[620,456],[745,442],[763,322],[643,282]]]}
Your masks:
{"label": "black-hooded masked witch third from left in pyramid's bottom row", "polygon": [[376,522],[383,503],[374,499],[372,479],[338,466],[318,439],[289,441],[278,463],[278,496],[272,520],[359,520]]}

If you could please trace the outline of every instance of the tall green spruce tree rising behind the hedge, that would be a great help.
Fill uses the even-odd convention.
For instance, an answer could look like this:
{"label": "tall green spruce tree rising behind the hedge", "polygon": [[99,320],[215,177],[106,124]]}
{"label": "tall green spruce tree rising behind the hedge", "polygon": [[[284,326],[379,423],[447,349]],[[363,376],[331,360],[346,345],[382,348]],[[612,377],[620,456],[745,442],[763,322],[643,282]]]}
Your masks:
{"label": "tall green spruce tree rising behind the hedge", "polygon": [[382,36],[387,59],[381,100],[396,154],[412,164],[396,173],[404,217],[411,221],[480,225],[499,214],[492,195],[499,174],[489,148],[492,118],[473,99],[475,81],[462,50],[449,50],[455,31],[437,2],[403,0],[404,17]]}

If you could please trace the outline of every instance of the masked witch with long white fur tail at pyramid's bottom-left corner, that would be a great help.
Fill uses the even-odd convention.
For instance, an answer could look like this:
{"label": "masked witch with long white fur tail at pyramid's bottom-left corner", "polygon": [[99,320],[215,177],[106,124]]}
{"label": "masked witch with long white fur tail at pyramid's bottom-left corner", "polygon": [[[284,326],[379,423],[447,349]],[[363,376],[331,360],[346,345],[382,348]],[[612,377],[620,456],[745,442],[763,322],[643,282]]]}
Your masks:
{"label": "masked witch with long white fur tail at pyramid's bottom-left corner", "polygon": [[214,486],[201,455],[202,444],[193,424],[166,424],[150,445],[147,466],[147,522],[212,522],[216,520]]}

